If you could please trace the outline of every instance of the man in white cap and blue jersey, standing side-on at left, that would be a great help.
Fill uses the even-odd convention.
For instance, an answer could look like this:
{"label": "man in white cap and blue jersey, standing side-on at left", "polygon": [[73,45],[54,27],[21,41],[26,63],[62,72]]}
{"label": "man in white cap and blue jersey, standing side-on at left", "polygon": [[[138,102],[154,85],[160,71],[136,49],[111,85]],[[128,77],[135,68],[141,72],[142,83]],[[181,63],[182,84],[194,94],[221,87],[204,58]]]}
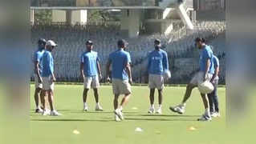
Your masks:
{"label": "man in white cap and blue jersey, standing side-on at left", "polygon": [[[54,82],[56,81],[55,74],[54,74],[54,59],[51,55],[51,51],[58,46],[55,42],[49,40],[46,43],[46,50],[43,53],[43,70],[42,70],[42,78],[43,78],[43,91],[45,94],[48,95],[48,102],[51,107],[51,116],[59,116],[59,114],[55,107],[53,106],[54,100]],[[47,115],[48,112],[46,110],[46,100],[43,99],[43,115]]]}

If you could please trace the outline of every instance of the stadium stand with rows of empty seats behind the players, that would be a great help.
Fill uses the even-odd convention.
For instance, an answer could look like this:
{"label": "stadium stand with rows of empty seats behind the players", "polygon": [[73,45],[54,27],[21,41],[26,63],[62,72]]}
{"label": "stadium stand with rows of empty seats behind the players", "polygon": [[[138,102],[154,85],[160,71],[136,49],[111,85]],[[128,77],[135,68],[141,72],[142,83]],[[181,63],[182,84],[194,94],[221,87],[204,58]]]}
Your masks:
{"label": "stadium stand with rows of empty seats behind the players", "polygon": [[[132,57],[132,73],[134,82],[147,82],[145,77],[146,58],[153,50],[153,41],[161,39],[163,49],[167,51],[172,71],[172,83],[185,83],[197,70],[198,50],[194,49],[194,38],[205,38],[220,58],[221,70],[225,70],[225,30],[226,22],[196,22],[193,31],[188,31],[181,22],[173,26],[169,35],[142,34],[139,38],[125,38]],[[82,82],[79,78],[79,58],[85,50],[84,42],[91,39],[95,43],[95,51],[100,56],[100,64],[105,76],[105,64],[108,54],[116,50],[117,39],[124,38],[120,34],[120,23],[90,23],[87,25],[69,26],[66,23],[51,23],[31,27],[31,51],[35,51],[38,38],[52,39],[58,43],[53,52],[55,58],[55,75],[58,81]],[[32,62],[31,62],[32,65]],[[33,66],[32,66],[33,67]],[[223,68],[222,68],[223,67]],[[33,79],[33,70],[31,70]],[[225,72],[221,73],[221,82],[225,82]]]}

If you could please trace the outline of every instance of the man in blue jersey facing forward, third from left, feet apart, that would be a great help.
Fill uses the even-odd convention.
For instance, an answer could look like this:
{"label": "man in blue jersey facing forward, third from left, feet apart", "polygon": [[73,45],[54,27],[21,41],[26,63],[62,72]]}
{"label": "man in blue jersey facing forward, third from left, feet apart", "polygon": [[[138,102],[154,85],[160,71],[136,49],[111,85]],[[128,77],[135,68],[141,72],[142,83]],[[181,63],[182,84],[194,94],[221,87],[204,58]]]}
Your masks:
{"label": "man in blue jersey facing forward, third from left, feet apart", "polygon": [[102,107],[99,103],[99,93],[98,88],[100,87],[100,80],[102,78],[101,70],[100,70],[100,58],[98,57],[98,53],[93,51],[93,42],[90,40],[86,42],[86,52],[84,52],[81,56],[81,64],[80,64],[80,74],[83,78],[83,110],[87,111],[87,93],[90,88],[94,90],[95,96],[95,110],[103,111]]}

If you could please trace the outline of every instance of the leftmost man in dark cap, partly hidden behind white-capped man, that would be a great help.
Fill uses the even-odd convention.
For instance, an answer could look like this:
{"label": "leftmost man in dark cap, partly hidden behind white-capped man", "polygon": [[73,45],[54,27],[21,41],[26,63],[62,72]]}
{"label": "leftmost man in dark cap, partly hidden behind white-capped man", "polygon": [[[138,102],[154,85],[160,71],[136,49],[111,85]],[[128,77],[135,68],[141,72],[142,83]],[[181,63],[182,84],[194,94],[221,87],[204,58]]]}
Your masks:
{"label": "leftmost man in dark cap, partly hidden behind white-capped man", "polygon": [[42,104],[42,99],[43,99],[43,84],[42,84],[42,56],[43,56],[43,52],[44,52],[44,48],[45,48],[45,44],[46,44],[46,40],[43,38],[39,39],[39,49],[37,51],[35,51],[34,54],[34,66],[35,66],[35,73],[34,73],[34,77],[35,77],[35,113],[43,113],[43,110],[41,109],[41,107],[39,106],[39,95],[40,95],[40,100],[41,100],[41,104]]}

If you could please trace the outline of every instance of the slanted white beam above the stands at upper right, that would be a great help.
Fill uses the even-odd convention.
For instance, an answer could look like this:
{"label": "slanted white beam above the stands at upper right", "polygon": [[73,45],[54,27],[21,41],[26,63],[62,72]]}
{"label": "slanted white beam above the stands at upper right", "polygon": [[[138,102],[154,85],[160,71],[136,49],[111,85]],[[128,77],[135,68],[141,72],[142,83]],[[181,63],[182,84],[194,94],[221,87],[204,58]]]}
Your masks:
{"label": "slanted white beam above the stands at upper right", "polygon": [[183,4],[177,6],[177,13],[180,15],[182,22],[187,26],[189,30],[193,30],[193,23],[191,22],[188,14],[185,11]]}

